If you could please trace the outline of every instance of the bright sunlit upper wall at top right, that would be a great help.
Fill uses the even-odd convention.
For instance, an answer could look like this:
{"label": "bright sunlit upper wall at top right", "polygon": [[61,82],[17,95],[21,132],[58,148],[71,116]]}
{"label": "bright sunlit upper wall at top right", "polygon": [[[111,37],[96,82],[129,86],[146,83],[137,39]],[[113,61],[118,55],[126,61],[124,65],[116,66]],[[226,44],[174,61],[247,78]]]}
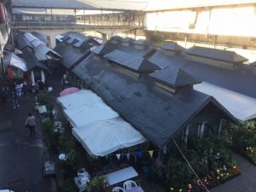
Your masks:
{"label": "bright sunlit upper wall at top right", "polygon": [[144,29],[256,38],[255,4],[146,13]]}

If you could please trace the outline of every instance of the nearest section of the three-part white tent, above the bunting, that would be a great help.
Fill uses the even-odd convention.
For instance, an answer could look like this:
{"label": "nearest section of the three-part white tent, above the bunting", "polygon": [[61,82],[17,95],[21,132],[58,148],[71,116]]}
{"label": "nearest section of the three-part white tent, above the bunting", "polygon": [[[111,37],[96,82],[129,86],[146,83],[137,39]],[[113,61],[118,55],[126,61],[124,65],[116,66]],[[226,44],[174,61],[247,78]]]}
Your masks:
{"label": "nearest section of the three-part white tent, above the bunting", "polygon": [[75,127],[73,136],[89,154],[96,156],[145,142],[143,135],[120,117]]}

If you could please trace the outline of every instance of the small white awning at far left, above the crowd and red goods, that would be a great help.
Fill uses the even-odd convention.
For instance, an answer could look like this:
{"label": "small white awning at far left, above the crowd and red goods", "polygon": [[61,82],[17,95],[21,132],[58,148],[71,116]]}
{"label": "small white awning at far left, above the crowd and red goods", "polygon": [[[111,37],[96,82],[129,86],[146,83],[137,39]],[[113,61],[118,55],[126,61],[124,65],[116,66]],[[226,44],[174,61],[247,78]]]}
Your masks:
{"label": "small white awning at far left, above the crowd and red goods", "polygon": [[26,61],[21,59],[19,56],[15,55],[14,53],[9,53],[8,55],[4,55],[3,63],[5,66],[17,67],[22,72],[27,71]]}

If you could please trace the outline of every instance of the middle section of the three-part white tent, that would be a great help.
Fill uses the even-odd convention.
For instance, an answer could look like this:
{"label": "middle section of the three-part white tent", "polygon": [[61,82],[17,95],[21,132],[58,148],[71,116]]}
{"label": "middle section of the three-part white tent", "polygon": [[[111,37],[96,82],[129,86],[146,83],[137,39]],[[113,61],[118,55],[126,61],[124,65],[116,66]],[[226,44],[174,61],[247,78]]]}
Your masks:
{"label": "middle section of the three-part white tent", "polygon": [[96,102],[76,109],[65,109],[64,113],[73,127],[113,119],[119,116],[119,113],[113,111],[104,102]]}

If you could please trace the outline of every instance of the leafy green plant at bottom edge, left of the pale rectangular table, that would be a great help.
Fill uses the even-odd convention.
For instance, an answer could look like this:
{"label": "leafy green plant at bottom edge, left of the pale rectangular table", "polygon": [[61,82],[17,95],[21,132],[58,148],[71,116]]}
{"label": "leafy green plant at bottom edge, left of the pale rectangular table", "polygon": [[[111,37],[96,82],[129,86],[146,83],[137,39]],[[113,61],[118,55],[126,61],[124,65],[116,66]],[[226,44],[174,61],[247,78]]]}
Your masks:
{"label": "leafy green plant at bottom edge, left of the pale rectangular table", "polygon": [[90,192],[111,192],[112,189],[106,182],[106,177],[94,177],[88,183],[88,189]]}

